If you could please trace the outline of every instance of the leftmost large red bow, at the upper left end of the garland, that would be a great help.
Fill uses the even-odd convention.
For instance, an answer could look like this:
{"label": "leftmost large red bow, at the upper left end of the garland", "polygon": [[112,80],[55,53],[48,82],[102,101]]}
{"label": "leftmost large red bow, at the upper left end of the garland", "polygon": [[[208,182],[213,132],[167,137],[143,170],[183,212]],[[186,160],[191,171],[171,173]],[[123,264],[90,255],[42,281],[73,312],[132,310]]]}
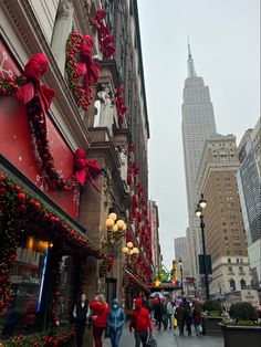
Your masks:
{"label": "leftmost large red bow, at the upper left end of the garland", "polygon": [[41,85],[40,80],[45,73],[49,60],[42,53],[33,54],[24,66],[24,76],[28,83],[21,86],[15,96],[27,105],[34,96],[38,96],[43,113],[43,123],[46,128],[46,111],[49,109],[54,97],[54,91],[45,85]]}

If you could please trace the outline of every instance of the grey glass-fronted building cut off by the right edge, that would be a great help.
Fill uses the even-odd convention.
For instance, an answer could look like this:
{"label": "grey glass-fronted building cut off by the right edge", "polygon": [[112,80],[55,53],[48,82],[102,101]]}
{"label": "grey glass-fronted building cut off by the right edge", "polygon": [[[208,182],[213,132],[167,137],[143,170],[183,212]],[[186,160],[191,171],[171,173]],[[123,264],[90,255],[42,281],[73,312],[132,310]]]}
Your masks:
{"label": "grey glass-fronted building cut off by the right edge", "polygon": [[261,148],[260,119],[244,133],[239,144],[240,168],[237,172],[243,223],[248,241],[253,284],[261,287]]}

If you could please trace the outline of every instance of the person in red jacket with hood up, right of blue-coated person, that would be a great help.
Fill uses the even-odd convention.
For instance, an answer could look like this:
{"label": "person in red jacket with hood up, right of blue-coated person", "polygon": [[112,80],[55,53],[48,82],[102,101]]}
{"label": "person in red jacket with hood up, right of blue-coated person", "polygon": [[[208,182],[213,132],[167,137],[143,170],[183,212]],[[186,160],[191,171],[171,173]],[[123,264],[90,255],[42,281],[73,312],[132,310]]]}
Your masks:
{"label": "person in red jacket with hood up, right of blue-coated person", "polygon": [[134,309],[132,312],[129,322],[129,332],[134,329],[135,347],[139,347],[143,343],[143,347],[146,347],[148,339],[148,333],[153,335],[153,326],[148,315],[148,311],[142,306],[143,299],[134,299]]}

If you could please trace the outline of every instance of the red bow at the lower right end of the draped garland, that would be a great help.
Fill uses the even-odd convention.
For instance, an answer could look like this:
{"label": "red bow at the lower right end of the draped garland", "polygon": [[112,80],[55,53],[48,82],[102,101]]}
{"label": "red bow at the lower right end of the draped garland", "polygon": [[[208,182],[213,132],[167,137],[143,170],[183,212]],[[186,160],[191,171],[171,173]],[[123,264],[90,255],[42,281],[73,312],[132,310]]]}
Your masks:
{"label": "red bow at the lower right end of the draped garland", "polygon": [[97,165],[95,159],[85,159],[85,153],[82,148],[76,149],[74,160],[75,177],[81,186],[84,186],[85,180],[91,181],[93,187],[101,192],[93,178],[101,174],[101,167]]}

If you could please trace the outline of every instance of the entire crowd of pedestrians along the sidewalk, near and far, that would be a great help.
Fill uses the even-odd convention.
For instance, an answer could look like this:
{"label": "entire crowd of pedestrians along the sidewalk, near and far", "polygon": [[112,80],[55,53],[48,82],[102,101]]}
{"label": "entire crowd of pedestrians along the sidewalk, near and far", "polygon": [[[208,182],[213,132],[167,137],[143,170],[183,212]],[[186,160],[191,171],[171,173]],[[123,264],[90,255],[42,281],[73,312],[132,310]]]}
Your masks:
{"label": "entire crowd of pedestrians along the sidewalk, near and far", "polygon": [[[92,327],[95,347],[103,346],[106,327],[112,347],[119,347],[126,319],[118,299],[113,299],[109,307],[103,294],[96,295],[91,302],[86,301],[85,294],[82,294],[80,302],[74,306],[73,317],[77,347],[83,346],[86,326]],[[174,301],[171,297],[157,295],[154,298],[135,298],[128,318],[129,332],[134,332],[135,347],[156,346],[153,338],[153,324],[158,330],[178,328],[180,336],[191,336],[194,324],[196,335],[202,333],[201,308],[187,298]]]}

